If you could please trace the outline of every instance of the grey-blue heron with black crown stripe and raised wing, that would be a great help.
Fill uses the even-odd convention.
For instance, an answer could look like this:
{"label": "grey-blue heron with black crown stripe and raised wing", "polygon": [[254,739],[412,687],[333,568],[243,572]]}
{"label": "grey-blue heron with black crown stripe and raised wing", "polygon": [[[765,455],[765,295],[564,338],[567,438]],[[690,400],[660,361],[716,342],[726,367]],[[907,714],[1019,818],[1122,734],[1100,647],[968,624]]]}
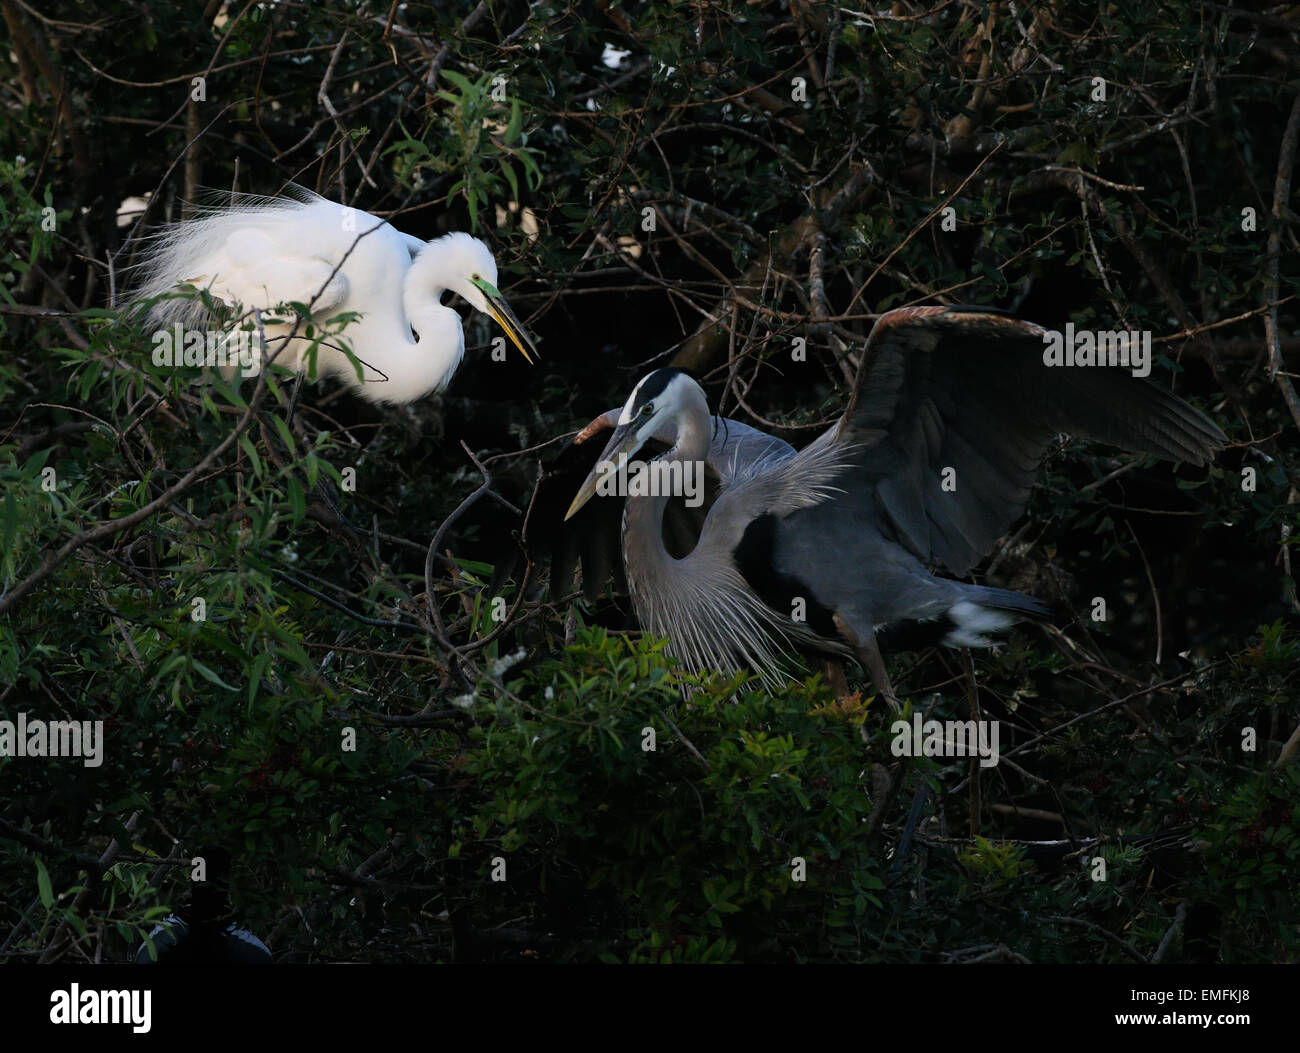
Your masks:
{"label": "grey-blue heron with black crown stripe and raised wing", "polygon": [[[1054,436],[1192,464],[1225,442],[1199,411],[1128,372],[1045,364],[1044,335],[1000,312],[890,311],[844,416],[798,452],[711,417],[694,380],[656,369],[580,434],[614,429],[566,519],[616,480],[620,459],[653,438],[671,443],[655,462],[701,465],[708,484],[696,510],[680,495],[628,491],[623,562],[641,627],[667,637],[689,670],[749,667],[770,684],[790,650],[850,647],[893,703],[883,627],[939,623],[952,646],[987,646],[993,630],[1049,616],[1032,597],[936,577],[927,564],[966,575],[988,554],[1024,510]],[[567,588],[573,543],[560,542],[552,589]],[[603,588],[599,563],[594,573],[588,588]]]}

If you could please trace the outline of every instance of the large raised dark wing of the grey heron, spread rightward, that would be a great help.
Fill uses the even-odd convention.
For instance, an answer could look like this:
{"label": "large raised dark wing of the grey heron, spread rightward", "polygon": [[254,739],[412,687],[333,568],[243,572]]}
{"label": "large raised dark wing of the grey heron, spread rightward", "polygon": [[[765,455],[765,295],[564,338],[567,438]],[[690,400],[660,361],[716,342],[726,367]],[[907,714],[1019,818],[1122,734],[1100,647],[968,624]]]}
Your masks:
{"label": "large raised dark wing of the grey heron, spread rightward", "polygon": [[1208,417],[1127,369],[1045,365],[1044,332],[974,308],[884,315],[849,408],[814,443],[859,446],[845,499],[962,575],[1024,510],[1057,433],[1193,464],[1223,445]]}

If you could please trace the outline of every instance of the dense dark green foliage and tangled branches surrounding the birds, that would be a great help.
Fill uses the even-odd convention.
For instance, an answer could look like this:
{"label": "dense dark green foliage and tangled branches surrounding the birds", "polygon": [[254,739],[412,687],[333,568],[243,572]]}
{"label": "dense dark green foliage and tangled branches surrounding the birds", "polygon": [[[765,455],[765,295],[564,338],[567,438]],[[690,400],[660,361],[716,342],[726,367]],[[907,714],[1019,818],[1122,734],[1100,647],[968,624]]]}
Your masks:
{"label": "dense dark green foliage and tangled branches surrounding the birds", "polygon": [[[0,719],[105,759],[0,758],[0,959],[126,959],[211,841],[281,961],[1300,957],[1295,9],[39,6],[0,0]],[[402,410],[156,367],[133,238],[290,181],[486,238],[543,361],[467,321]],[[936,302],[1150,330],[1232,442],[1044,467],[980,578],[1058,612],[975,655],[996,768],[820,676],[682,701],[525,559],[490,593],[543,445],[650,364],[800,443]],[[959,653],[892,672],[968,714]]]}

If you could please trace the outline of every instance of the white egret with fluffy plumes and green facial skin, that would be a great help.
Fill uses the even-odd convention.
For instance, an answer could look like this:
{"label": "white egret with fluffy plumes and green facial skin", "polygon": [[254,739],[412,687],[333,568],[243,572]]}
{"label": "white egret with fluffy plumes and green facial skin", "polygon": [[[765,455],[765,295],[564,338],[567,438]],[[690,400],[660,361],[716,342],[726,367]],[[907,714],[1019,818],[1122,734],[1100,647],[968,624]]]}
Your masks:
{"label": "white egret with fluffy plumes and green facial skin", "polygon": [[[244,196],[152,235],[139,264],[133,298],[151,300],[181,285],[243,309],[300,303],[317,332],[347,312],[359,316],[343,330],[363,376],[329,335],[316,351],[316,369],[342,377],[374,402],[404,403],[443,387],[464,356],[460,316],[441,303],[447,290],[493,317],[529,361],[532,339],[497,289],[497,261],[469,234],[421,242],[377,216],[329,202],[300,187],[294,198]],[[198,298],[160,299],[150,321],[199,329],[211,324]],[[268,350],[295,339],[285,363],[309,365],[312,341],[291,312],[265,325]],[[296,326],[296,328],[295,328]],[[412,337],[412,330],[415,335]]]}

